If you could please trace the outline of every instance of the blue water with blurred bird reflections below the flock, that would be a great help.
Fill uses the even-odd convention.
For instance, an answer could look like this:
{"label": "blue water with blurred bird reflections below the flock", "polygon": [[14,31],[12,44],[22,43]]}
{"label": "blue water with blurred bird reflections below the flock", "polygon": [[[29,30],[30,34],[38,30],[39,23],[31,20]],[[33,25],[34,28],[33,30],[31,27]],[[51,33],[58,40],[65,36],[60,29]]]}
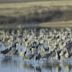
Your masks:
{"label": "blue water with blurred bird reflections below the flock", "polygon": [[34,66],[25,63],[20,57],[0,58],[0,72],[72,72],[71,63],[46,63],[44,65]]}

